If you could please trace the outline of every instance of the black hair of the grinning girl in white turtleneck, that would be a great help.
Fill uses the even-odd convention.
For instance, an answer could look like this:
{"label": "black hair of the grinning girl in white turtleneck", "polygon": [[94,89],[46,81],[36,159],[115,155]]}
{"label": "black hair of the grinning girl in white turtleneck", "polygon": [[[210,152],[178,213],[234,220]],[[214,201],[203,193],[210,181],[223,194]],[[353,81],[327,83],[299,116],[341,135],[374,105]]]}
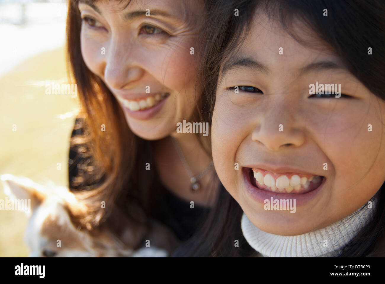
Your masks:
{"label": "black hair of the grinning girl in white turtleneck", "polygon": [[[208,5],[211,23],[207,24],[208,30],[204,33],[206,50],[201,67],[203,93],[211,98],[210,124],[220,63],[241,45],[257,9],[280,21],[282,27],[301,44],[316,48],[319,42],[309,42],[294,32],[294,20],[300,20],[304,27],[315,33],[323,46],[341,58],[346,68],[370,92],[385,100],[384,0],[213,0]],[[384,235],[384,186],[377,192],[378,203],[373,208],[372,219],[343,248],[341,257],[367,256]],[[223,186],[219,191],[217,203],[201,232],[181,247],[176,256],[256,255],[241,232],[241,207]],[[236,240],[239,247],[235,246]]]}

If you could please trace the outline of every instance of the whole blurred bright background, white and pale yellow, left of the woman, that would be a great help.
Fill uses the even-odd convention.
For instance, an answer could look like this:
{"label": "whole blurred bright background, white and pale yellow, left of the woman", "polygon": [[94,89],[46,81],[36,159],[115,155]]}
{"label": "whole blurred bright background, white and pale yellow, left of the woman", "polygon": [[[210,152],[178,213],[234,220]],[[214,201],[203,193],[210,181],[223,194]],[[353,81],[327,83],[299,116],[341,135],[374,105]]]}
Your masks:
{"label": "whole blurred bright background, white and pale yellow, left of the woman", "polygon": [[[65,0],[0,0],[0,174],[68,186],[78,97],[45,94],[47,81],[68,82],[66,14]],[[1,184],[0,199],[5,199]],[[23,212],[0,210],[0,257],[28,256],[26,224]]]}

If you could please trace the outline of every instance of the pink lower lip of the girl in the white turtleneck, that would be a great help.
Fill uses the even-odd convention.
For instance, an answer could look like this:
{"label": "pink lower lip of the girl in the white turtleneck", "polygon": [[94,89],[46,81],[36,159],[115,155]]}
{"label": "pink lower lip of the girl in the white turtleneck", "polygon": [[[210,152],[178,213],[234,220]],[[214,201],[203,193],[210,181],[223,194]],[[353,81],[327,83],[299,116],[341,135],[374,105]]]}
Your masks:
{"label": "pink lower lip of the girl in the white turtleneck", "polygon": [[270,198],[273,197],[273,199],[295,199],[296,205],[301,206],[306,202],[308,202],[309,200],[315,198],[315,196],[318,194],[318,192],[321,191],[324,184],[326,183],[326,177],[323,177],[321,184],[317,188],[309,192],[306,192],[303,194],[283,193],[283,192],[272,192],[269,190],[260,189],[256,185],[256,183],[253,182],[253,180],[255,179],[253,176],[253,170],[251,170],[251,168],[243,167],[242,176],[243,176],[243,180],[246,186],[246,191],[248,192],[248,194],[251,196],[252,199],[263,204],[264,204],[264,200],[266,199],[270,200]]}

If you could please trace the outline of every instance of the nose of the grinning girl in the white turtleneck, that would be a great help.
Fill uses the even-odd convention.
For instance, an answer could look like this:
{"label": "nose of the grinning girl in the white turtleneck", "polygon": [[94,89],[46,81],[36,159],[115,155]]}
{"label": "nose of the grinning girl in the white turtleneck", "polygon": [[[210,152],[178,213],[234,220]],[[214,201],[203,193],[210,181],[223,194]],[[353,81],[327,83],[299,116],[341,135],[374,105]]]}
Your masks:
{"label": "nose of the grinning girl in the white turtleneck", "polygon": [[281,103],[269,108],[258,120],[251,139],[269,150],[278,151],[286,147],[298,147],[305,142],[301,123],[295,110]]}

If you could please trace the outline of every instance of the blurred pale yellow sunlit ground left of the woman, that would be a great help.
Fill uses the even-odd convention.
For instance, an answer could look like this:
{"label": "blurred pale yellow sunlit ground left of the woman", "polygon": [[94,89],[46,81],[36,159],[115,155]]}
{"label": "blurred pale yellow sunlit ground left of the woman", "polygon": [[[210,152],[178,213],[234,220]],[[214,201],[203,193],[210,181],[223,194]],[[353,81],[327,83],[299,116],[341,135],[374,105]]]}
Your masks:
{"label": "blurred pale yellow sunlit ground left of the woman", "polygon": [[[69,137],[78,98],[46,95],[46,80],[67,82],[63,47],[35,55],[0,77],[0,174],[67,186]],[[0,199],[4,198],[0,185]],[[28,256],[23,242],[26,223],[23,212],[0,210],[0,257]]]}

